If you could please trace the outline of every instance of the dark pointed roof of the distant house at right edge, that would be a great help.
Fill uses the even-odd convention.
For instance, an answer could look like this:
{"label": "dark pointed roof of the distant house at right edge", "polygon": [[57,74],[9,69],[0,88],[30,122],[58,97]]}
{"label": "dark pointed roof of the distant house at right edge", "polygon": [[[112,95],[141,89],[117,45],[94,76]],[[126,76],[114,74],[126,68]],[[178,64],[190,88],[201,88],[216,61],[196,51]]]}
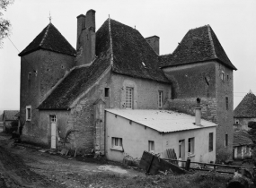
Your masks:
{"label": "dark pointed roof of the distant house at right edge", "polygon": [[247,93],[239,105],[235,107],[234,117],[256,117],[256,96],[252,92]]}

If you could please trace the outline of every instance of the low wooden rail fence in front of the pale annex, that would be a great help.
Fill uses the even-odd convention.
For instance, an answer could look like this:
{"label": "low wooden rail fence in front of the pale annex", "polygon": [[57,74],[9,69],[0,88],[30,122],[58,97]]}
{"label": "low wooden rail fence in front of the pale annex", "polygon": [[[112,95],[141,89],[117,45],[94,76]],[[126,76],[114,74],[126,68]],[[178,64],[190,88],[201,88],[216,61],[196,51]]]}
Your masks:
{"label": "low wooden rail fence in front of the pale annex", "polygon": [[[187,170],[187,171],[190,170],[190,169],[200,170],[200,171],[211,171],[211,170],[214,170],[217,173],[234,174],[234,172],[226,172],[226,171],[216,170],[216,167],[232,168],[232,169],[234,169],[235,172],[237,172],[240,168],[243,168],[243,167],[240,167],[240,166],[230,166],[230,165],[220,165],[220,164],[213,164],[213,163],[191,162],[189,158],[187,160],[177,160],[177,159],[171,159],[171,158],[163,158],[163,159],[167,160],[167,161],[170,161],[172,163],[173,162],[185,163],[186,164],[185,167],[182,167],[182,168],[185,168],[185,170]],[[203,167],[212,166],[212,167],[214,167],[214,169],[202,169],[202,168],[190,167],[191,163],[192,164],[199,164],[200,166],[203,166]]]}

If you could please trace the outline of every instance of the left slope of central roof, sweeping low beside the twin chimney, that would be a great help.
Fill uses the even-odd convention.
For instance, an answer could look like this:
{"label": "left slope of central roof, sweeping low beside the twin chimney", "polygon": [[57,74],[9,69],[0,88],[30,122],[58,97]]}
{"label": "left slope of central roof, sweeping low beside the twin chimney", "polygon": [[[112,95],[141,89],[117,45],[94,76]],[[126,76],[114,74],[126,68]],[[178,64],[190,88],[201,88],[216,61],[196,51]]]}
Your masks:
{"label": "left slope of central roof, sweeping low beside the twin chimney", "polygon": [[81,93],[88,89],[110,66],[110,36],[108,21],[96,33],[97,59],[90,66],[81,66],[71,71],[61,81],[39,109],[68,109]]}

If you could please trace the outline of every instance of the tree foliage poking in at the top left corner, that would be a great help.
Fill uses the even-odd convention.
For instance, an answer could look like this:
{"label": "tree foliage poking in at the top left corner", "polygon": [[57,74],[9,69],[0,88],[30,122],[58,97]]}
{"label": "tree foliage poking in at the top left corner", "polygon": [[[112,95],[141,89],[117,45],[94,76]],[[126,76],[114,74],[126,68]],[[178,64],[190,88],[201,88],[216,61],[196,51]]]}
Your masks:
{"label": "tree foliage poking in at the top left corner", "polygon": [[4,19],[7,6],[13,4],[14,0],[0,0],[0,48],[3,48],[3,39],[10,35],[11,22]]}

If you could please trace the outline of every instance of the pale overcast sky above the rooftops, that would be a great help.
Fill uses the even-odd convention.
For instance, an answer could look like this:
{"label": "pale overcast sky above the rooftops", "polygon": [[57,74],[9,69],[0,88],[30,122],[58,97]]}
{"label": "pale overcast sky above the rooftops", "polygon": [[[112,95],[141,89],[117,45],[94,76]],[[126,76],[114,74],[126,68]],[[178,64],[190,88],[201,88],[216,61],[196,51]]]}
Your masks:
{"label": "pale overcast sky above the rooftops", "polygon": [[[0,49],[0,110],[20,108],[18,56],[51,22],[75,47],[76,16],[96,11],[96,30],[110,18],[160,37],[160,55],[170,54],[190,29],[209,24],[234,71],[234,107],[249,90],[256,94],[255,0],[15,0],[4,12],[12,35]],[[13,43],[12,43],[12,42]],[[15,47],[14,47],[14,46]],[[16,49],[17,48],[17,49]]]}

